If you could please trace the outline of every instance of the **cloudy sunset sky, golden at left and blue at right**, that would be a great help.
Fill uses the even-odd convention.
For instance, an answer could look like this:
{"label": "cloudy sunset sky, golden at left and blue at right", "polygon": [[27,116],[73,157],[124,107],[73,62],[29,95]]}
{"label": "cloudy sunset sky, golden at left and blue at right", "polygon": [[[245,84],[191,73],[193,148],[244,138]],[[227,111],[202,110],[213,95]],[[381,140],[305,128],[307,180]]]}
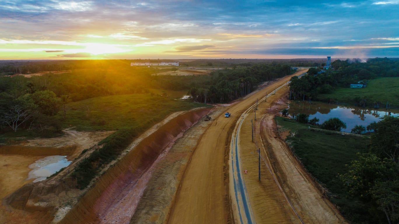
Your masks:
{"label": "cloudy sunset sky, golden at left and blue at right", "polygon": [[0,60],[399,57],[399,0],[0,0]]}

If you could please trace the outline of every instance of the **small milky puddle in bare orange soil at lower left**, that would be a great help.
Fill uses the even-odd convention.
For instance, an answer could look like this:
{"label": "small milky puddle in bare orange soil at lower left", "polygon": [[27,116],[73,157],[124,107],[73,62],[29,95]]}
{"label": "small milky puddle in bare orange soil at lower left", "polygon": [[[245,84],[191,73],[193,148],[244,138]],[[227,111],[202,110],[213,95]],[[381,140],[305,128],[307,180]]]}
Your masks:
{"label": "small milky puddle in bare orange soil at lower left", "polygon": [[51,174],[59,171],[61,168],[67,167],[72,161],[66,159],[67,156],[47,156],[40,160],[36,160],[29,165],[32,170],[28,174],[28,179],[35,179],[33,182],[45,180]]}

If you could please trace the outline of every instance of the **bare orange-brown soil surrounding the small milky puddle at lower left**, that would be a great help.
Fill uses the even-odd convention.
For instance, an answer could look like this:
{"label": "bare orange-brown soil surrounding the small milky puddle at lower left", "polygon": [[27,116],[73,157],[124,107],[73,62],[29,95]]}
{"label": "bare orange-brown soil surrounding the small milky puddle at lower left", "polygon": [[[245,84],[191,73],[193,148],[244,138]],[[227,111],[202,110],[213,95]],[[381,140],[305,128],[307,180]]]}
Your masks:
{"label": "bare orange-brown soil surrounding the small milky puddle at lower left", "polygon": [[[65,184],[67,171],[63,175],[31,183],[34,179],[27,179],[32,170],[28,166],[49,155],[65,155],[69,160],[74,160],[83,149],[95,146],[114,131],[64,132],[65,135],[57,138],[36,138],[0,146],[0,199],[3,201],[0,223],[49,223],[52,215],[47,207],[62,205],[76,197],[77,191],[71,191]],[[75,164],[72,163],[65,170],[70,172]],[[4,201],[6,198],[8,203]],[[40,204],[36,205],[39,206],[34,208],[38,201]]]}

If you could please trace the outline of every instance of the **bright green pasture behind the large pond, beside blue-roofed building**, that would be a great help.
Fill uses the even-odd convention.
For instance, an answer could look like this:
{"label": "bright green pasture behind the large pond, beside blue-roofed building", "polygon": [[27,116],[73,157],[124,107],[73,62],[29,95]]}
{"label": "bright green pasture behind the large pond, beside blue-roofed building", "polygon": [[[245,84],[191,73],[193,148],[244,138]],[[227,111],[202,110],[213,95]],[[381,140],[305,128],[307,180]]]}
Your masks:
{"label": "bright green pasture behind the large pond, beside blue-roofed building", "polygon": [[374,101],[381,101],[380,107],[386,103],[391,108],[399,108],[399,77],[376,78],[370,80],[366,88],[338,88],[330,94],[318,95],[318,100],[328,102],[328,99],[335,99],[339,103],[354,105],[355,98],[367,99],[367,106],[373,106]]}

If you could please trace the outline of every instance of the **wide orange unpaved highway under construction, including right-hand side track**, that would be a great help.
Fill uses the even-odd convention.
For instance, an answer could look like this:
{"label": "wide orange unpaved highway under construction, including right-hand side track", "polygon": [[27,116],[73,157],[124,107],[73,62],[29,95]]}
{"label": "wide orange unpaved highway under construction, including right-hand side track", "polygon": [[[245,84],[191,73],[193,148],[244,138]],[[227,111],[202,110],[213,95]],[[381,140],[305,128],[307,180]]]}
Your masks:
{"label": "wide orange unpaved highway under construction, including right-hand side track", "polygon": [[[256,143],[251,141],[251,118],[254,119],[254,114],[245,114],[243,121],[237,123],[242,119],[241,114],[250,108],[256,99],[265,97],[267,93],[271,93],[289,79],[290,76],[281,78],[251,94],[247,99],[226,107],[225,111],[230,112],[232,116],[225,118],[222,115],[212,121],[210,127],[201,135],[191,161],[184,171],[167,223],[300,223],[294,210],[305,223],[345,223],[338,211],[329,201],[323,199],[312,183],[306,179],[307,176],[302,168],[298,168],[298,164],[292,161],[284,149],[285,145],[275,142],[275,134],[271,129],[274,124],[270,122],[273,119],[269,118],[272,112],[269,110],[273,109],[271,104],[286,93],[288,86],[270,95],[266,102],[259,103],[257,121],[254,123]],[[234,132],[237,124],[241,124],[237,140],[239,161],[229,156],[232,140],[237,136]],[[279,189],[272,173],[267,171],[265,162],[261,164],[263,170],[261,181],[258,180],[257,148],[261,148],[261,154],[270,164],[273,175],[277,177],[292,206]],[[273,156],[270,156],[272,153]],[[283,163],[281,160],[288,162]],[[233,176],[229,175],[237,172],[237,169],[232,170],[231,167],[231,163],[237,164],[237,162],[241,166],[240,175],[245,181],[242,183],[245,186],[242,192],[248,196],[247,212],[243,209],[239,211],[237,201],[240,204],[243,204],[243,201],[237,200],[235,196],[237,187],[234,187]],[[247,174],[243,173],[244,169],[248,170]],[[230,219],[231,214],[233,219]]]}

